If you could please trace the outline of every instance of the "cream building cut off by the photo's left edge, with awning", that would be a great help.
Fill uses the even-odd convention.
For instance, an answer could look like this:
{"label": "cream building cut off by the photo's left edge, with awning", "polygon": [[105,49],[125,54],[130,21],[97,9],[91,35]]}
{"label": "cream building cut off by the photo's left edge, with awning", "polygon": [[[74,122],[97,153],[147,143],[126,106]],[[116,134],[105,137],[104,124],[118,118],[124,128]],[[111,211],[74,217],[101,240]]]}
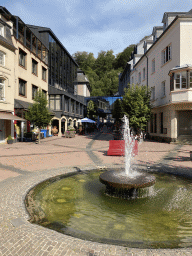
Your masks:
{"label": "cream building cut off by the photo's left edge, with awning", "polygon": [[12,23],[0,14],[0,143],[14,137],[15,47],[11,37]]}

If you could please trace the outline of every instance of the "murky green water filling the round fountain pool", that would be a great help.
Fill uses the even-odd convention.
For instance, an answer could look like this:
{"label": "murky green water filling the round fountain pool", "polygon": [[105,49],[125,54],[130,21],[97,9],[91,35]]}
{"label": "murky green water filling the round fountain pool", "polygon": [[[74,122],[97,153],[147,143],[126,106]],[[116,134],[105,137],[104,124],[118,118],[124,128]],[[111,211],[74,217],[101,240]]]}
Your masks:
{"label": "murky green water filling the round fountain pool", "polygon": [[125,200],[105,195],[100,171],[38,185],[34,199],[52,229],[97,242],[139,248],[192,245],[192,182],[154,174],[148,197]]}

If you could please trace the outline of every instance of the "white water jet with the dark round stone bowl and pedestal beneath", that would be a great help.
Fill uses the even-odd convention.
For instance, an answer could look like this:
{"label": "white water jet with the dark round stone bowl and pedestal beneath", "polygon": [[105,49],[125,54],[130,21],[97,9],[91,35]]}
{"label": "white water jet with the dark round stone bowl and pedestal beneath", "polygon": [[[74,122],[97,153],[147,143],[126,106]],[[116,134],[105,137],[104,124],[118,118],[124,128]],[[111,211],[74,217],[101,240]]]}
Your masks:
{"label": "white water jet with the dark round stone bowl and pedestal beneath", "polygon": [[155,177],[147,173],[135,171],[131,166],[133,158],[134,139],[130,135],[129,119],[123,117],[123,138],[125,141],[125,169],[111,170],[100,175],[101,183],[106,185],[106,194],[117,197],[132,198],[138,194],[139,188],[145,188],[155,183]]}

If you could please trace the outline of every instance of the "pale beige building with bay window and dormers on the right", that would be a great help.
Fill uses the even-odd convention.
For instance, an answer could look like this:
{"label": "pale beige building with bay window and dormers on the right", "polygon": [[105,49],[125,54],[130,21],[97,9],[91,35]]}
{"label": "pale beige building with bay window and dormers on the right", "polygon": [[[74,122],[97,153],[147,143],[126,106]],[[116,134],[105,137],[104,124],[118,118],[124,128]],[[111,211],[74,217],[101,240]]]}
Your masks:
{"label": "pale beige building with bay window and dormers on the right", "polygon": [[192,136],[192,11],[165,13],[162,23],[128,62],[130,83],[151,89],[150,136],[176,141]]}

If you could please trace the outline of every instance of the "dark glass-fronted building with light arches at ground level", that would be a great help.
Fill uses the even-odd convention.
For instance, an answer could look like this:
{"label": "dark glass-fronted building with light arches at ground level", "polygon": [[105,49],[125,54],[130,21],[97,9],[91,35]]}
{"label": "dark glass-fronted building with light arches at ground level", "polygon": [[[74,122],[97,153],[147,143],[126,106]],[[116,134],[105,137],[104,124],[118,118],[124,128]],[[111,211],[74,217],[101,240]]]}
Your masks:
{"label": "dark glass-fronted building with light arches at ground level", "polygon": [[75,95],[78,65],[49,28],[28,25],[49,51],[48,93],[49,108],[54,111],[52,127],[61,136],[69,125],[77,126],[84,116],[84,96]]}

